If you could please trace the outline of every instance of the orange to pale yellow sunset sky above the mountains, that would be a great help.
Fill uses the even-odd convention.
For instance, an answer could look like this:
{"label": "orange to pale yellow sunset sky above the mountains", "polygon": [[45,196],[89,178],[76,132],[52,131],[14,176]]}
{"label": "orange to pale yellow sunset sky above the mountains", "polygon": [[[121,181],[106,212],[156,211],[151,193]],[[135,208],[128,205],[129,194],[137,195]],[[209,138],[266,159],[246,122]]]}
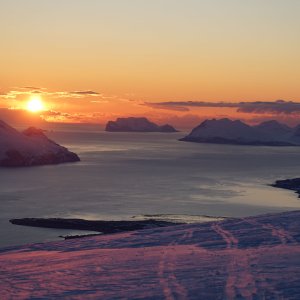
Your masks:
{"label": "orange to pale yellow sunset sky above the mountains", "polygon": [[299,0],[0,0],[0,111],[39,95],[49,121],[300,122],[299,13]]}

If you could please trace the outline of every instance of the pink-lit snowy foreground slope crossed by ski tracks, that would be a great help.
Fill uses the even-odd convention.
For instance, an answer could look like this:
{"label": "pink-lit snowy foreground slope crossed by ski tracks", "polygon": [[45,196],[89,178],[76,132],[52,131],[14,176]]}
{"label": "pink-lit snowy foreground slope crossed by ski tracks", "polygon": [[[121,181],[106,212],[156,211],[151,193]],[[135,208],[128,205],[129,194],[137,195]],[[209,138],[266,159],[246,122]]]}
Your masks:
{"label": "pink-lit snowy foreground slope crossed by ski tracks", "polygon": [[0,250],[1,299],[300,299],[300,212]]}

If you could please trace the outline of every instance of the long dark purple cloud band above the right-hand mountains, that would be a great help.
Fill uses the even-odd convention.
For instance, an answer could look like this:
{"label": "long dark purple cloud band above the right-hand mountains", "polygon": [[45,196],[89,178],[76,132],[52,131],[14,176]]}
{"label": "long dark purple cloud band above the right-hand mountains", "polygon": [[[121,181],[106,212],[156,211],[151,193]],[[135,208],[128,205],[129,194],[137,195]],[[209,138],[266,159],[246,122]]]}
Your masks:
{"label": "long dark purple cloud band above the right-hand mountains", "polygon": [[205,101],[170,101],[149,103],[144,105],[155,109],[187,111],[196,107],[235,108],[237,112],[254,114],[300,114],[300,102],[294,101],[255,101],[255,102],[205,102]]}

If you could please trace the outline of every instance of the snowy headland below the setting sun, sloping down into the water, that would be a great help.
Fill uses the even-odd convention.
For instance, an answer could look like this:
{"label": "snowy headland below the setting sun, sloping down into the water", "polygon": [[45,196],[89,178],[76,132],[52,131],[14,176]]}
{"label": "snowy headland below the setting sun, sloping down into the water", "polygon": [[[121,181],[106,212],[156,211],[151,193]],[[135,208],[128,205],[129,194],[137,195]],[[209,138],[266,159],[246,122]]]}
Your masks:
{"label": "snowy headland below the setting sun, sloping down into the water", "polygon": [[23,133],[0,120],[0,166],[21,167],[79,161],[79,157],[49,140],[34,127]]}

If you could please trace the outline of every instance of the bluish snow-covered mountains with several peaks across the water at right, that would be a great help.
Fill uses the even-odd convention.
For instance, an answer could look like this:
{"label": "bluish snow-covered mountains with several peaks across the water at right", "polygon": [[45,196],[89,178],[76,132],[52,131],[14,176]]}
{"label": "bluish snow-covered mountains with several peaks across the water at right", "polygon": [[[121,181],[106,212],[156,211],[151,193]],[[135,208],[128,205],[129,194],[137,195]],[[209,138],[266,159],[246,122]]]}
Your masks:
{"label": "bluish snow-covered mountains with several peaks across the water at right", "polygon": [[291,128],[273,120],[250,126],[240,120],[212,119],[202,122],[180,140],[234,145],[300,146],[300,125]]}

